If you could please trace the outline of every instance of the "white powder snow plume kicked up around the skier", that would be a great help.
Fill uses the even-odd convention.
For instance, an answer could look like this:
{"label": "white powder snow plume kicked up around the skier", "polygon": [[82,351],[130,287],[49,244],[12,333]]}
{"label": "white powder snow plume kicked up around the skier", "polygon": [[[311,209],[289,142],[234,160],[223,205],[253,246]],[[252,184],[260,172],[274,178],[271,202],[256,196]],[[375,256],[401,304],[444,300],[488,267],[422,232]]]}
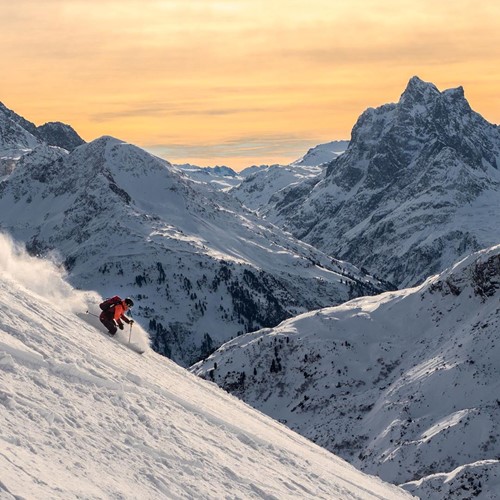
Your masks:
{"label": "white powder snow plume kicked up around the skier", "polygon": [[[55,256],[53,260],[33,257],[22,243],[0,233],[0,273],[5,281],[15,281],[56,305],[58,310],[76,314],[98,330],[104,330],[97,317],[101,312],[98,304],[103,298],[94,291],[75,290],[66,282],[66,272],[57,265]],[[118,332],[116,339],[125,343],[130,333]],[[133,339],[144,349],[149,346],[148,333],[137,323],[133,326]]]}

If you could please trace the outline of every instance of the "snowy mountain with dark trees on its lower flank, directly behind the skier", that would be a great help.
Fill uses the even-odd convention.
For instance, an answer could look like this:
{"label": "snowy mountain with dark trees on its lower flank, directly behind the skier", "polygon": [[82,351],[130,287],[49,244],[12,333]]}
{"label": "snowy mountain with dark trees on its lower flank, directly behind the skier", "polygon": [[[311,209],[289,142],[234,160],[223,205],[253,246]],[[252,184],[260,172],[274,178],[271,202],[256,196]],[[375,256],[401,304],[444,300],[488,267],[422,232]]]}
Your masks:
{"label": "snowy mountain with dark trees on its lower flank, directly behind the skier", "polygon": [[154,348],[185,365],[385,287],[111,137],[24,155],[0,184],[0,227],[32,253],[58,251],[76,286],[133,295]]}

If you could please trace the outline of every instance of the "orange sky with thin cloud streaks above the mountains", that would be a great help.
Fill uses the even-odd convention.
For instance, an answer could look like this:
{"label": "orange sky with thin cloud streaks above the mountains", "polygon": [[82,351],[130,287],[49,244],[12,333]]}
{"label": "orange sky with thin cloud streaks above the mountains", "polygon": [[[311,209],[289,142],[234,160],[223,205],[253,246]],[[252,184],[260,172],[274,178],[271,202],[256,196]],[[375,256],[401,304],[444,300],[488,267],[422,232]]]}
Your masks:
{"label": "orange sky with thin cloud streaks above the mountains", "polygon": [[0,0],[0,101],[174,162],[288,163],[418,75],[500,123],[496,0]]}

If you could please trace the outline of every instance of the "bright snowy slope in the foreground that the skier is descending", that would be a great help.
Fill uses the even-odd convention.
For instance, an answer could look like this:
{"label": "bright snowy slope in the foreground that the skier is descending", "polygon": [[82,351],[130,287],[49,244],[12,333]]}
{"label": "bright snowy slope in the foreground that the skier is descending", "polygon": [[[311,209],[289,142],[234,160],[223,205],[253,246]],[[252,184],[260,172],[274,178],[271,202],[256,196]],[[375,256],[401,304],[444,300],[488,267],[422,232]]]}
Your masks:
{"label": "bright snowy slope in the foreground that the skier is descending", "polygon": [[3,237],[0,257],[2,499],[410,498],[105,337],[74,314],[91,294]]}

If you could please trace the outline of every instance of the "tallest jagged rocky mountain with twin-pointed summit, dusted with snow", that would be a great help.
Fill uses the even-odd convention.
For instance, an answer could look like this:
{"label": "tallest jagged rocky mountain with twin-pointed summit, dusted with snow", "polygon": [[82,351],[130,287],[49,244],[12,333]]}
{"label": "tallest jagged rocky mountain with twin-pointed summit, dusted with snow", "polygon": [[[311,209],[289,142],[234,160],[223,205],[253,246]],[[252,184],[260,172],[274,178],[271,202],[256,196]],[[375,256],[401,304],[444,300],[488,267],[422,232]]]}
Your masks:
{"label": "tallest jagged rocky mountain with twin-pointed summit, dusted with snow", "polygon": [[400,286],[500,242],[500,128],[462,87],[413,77],[400,100],[366,110],[325,178],[284,189],[267,219]]}

